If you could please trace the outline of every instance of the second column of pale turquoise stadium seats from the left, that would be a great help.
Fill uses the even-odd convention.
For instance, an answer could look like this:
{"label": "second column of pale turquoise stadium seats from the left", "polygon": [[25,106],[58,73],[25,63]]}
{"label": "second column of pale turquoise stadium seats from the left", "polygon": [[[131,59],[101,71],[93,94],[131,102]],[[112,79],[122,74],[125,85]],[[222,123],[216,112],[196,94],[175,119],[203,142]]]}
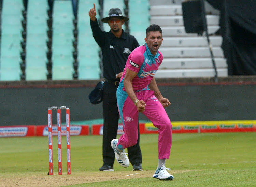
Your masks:
{"label": "second column of pale turquoise stadium seats from the left", "polygon": [[28,1],[26,80],[46,80],[47,1]]}

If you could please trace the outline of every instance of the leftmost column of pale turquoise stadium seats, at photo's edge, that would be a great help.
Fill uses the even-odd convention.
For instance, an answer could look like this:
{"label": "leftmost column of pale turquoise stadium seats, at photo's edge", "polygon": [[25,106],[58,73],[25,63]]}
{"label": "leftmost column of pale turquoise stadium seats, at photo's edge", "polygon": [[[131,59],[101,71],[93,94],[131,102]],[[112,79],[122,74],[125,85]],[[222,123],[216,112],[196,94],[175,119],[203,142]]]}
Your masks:
{"label": "leftmost column of pale turquoise stadium seats, at photo's edge", "polygon": [[0,81],[20,80],[22,0],[3,0],[1,12]]}

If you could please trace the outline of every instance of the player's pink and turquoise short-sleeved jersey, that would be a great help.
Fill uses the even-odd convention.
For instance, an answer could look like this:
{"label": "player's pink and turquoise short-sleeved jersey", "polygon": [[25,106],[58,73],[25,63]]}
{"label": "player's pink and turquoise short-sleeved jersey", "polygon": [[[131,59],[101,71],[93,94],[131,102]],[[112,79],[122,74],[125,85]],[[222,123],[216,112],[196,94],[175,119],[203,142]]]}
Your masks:
{"label": "player's pink and turquoise short-sleeved jersey", "polygon": [[148,84],[153,79],[158,67],[162,63],[163,55],[160,51],[157,51],[156,55],[152,55],[147,47],[147,44],[143,44],[134,49],[129,55],[124,73],[121,77],[119,87],[125,91],[124,77],[126,68],[137,73],[132,80],[132,86],[134,91],[147,90]]}

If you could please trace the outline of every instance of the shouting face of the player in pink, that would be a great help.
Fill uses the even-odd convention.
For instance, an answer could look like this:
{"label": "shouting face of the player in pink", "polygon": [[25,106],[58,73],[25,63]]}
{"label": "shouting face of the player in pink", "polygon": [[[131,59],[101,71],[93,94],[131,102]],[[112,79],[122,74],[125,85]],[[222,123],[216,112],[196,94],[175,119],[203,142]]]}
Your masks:
{"label": "shouting face of the player in pink", "polygon": [[145,38],[148,49],[153,55],[156,55],[158,49],[162,44],[162,34],[159,31],[150,31]]}

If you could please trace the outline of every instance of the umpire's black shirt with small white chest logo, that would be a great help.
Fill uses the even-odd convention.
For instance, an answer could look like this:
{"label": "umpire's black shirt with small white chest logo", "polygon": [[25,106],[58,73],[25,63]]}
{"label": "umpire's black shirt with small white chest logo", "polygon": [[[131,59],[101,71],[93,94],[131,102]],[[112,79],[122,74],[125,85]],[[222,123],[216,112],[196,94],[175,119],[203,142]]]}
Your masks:
{"label": "umpire's black shirt with small white chest logo", "polygon": [[90,20],[93,37],[100,46],[103,55],[103,76],[108,80],[116,80],[116,74],[122,72],[130,53],[139,46],[134,36],[122,29],[120,38],[109,31],[100,29],[98,20]]}

